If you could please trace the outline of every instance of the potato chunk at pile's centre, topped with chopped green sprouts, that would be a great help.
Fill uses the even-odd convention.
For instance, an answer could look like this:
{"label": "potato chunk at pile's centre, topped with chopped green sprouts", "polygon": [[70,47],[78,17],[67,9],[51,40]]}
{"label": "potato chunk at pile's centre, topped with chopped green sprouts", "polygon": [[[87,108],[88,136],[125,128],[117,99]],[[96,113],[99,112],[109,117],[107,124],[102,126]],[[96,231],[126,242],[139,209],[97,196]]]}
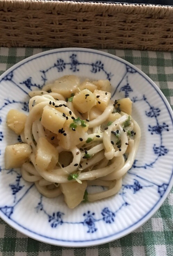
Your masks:
{"label": "potato chunk at pile's centre, topped with chopped green sprouts", "polygon": [[75,125],[77,125],[77,127],[75,127],[75,131],[73,131],[72,127],[70,127],[71,123],[74,123],[71,118],[66,120],[63,128],[64,133],[58,133],[57,135],[57,138],[59,140],[59,145],[65,149],[70,149],[80,144],[81,143],[80,138],[84,140],[85,132],[88,131],[87,122],[85,122],[85,124],[87,125],[86,127],[81,126],[78,123],[74,123]]}

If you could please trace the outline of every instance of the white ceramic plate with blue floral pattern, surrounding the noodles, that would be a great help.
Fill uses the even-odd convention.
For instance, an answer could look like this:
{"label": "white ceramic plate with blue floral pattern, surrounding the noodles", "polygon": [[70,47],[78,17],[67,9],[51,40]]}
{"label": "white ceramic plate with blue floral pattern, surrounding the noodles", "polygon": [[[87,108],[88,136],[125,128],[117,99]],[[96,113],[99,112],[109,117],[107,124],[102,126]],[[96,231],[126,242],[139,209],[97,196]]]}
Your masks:
{"label": "white ceramic plate with blue floral pattern, surrounding the noodles", "polygon": [[[42,197],[19,170],[3,170],[7,144],[20,141],[6,127],[9,109],[28,111],[28,92],[75,74],[109,79],[114,99],[130,97],[141,127],[136,160],[121,191],[108,199],[67,208],[63,197]],[[104,52],[55,49],[31,56],[0,77],[0,217],[36,240],[84,247],[118,239],[142,225],[162,205],[173,184],[173,113],[158,87],[132,64]]]}

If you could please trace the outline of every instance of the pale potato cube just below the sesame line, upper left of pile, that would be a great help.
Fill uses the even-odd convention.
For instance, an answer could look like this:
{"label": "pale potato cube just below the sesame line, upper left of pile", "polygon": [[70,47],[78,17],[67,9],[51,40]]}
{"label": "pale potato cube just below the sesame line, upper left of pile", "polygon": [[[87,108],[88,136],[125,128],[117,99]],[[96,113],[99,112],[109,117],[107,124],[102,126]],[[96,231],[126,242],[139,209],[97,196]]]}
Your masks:
{"label": "pale potato cube just below the sesame line, upper left of pile", "polygon": [[53,133],[58,133],[66,121],[63,114],[50,106],[45,106],[43,109],[41,124]]}

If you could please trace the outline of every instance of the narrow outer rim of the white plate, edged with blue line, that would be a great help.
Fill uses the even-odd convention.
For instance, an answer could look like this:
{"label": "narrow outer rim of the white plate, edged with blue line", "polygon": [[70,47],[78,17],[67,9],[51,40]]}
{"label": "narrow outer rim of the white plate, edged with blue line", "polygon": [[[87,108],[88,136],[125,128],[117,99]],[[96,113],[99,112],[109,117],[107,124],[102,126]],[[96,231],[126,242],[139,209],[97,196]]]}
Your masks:
{"label": "narrow outer rim of the white plate, edged with blue line", "polygon": [[[102,55],[102,56],[105,56],[105,57],[110,57],[113,60],[117,60],[117,61],[119,61],[121,63],[127,64],[130,67],[134,68],[134,70],[137,70],[137,72],[141,76],[143,76],[147,80],[147,82],[149,82],[149,84],[157,91],[159,96],[162,98],[162,100],[163,100],[163,102],[165,104],[165,107],[167,108],[168,114],[170,115],[170,118],[171,118],[171,121],[172,121],[172,125],[173,125],[173,111],[171,109],[171,106],[168,103],[165,95],[162,93],[162,91],[159,89],[159,87],[154,83],[154,81],[151,80],[150,77],[148,77],[143,71],[141,71],[139,68],[137,68],[135,65],[131,64],[130,62],[128,62],[128,61],[126,61],[126,60],[124,60],[121,57],[118,57],[116,55],[113,55],[113,54],[110,54],[110,53],[106,53],[106,52],[103,52],[103,51],[97,50],[97,49],[80,48],[80,47],[79,48],[78,47],[67,47],[67,48],[51,49],[51,50],[44,51],[44,52],[41,52],[41,53],[38,53],[38,54],[34,54],[32,56],[27,57],[26,59],[24,59],[22,61],[19,61],[18,63],[16,63],[12,67],[10,67],[8,70],[6,70],[4,73],[2,73],[2,75],[0,76],[0,82],[11,71],[16,70],[17,68],[19,68],[23,64],[26,64],[26,63],[28,63],[28,62],[30,62],[32,60],[38,59],[39,57],[43,57],[43,56],[46,56],[46,55],[49,55],[49,54],[56,54],[56,53],[63,53],[63,52],[73,52],[73,51],[74,52],[89,52],[89,53],[92,53],[92,54],[98,54],[98,55]],[[15,228],[17,231],[27,235],[28,237],[30,237],[32,239],[38,240],[40,242],[45,242],[45,243],[48,243],[48,244],[51,244],[51,245],[64,246],[64,247],[96,246],[96,245],[101,245],[101,244],[104,244],[104,243],[108,243],[108,242],[120,239],[123,236],[125,236],[125,235],[133,232],[134,230],[136,230],[138,227],[143,225],[145,222],[147,222],[147,220],[150,219],[155,214],[155,212],[162,206],[163,202],[166,200],[168,194],[170,193],[172,186],[173,186],[173,170],[172,170],[172,174],[170,176],[168,187],[167,187],[163,197],[161,197],[153,205],[153,207],[144,216],[142,216],[137,222],[135,222],[132,225],[128,226],[123,231],[119,231],[116,234],[109,235],[109,236],[107,236],[105,238],[97,238],[97,239],[85,240],[85,241],[60,240],[60,239],[50,238],[50,237],[38,234],[36,232],[33,232],[33,231],[29,230],[28,228],[25,228],[22,225],[20,225],[19,223],[15,222],[15,220],[9,219],[1,211],[0,211],[0,217],[8,225],[10,225],[11,227]],[[120,233],[121,233],[121,235],[118,235]],[[116,237],[116,236],[118,236],[118,237]],[[67,243],[69,243],[69,244],[67,244]],[[77,245],[77,243],[79,243],[79,245]],[[83,243],[83,244],[81,244],[81,243]]]}

